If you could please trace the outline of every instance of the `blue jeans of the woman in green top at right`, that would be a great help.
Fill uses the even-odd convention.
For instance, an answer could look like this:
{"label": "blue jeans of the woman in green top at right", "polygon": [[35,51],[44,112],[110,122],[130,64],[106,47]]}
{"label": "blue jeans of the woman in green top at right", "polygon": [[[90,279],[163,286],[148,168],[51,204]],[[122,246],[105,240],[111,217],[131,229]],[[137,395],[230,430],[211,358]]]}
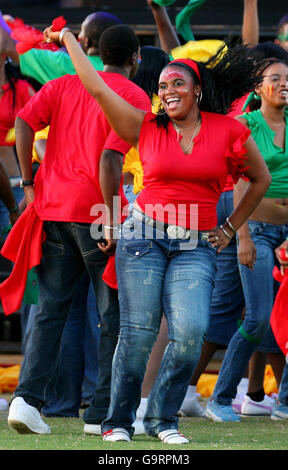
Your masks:
{"label": "blue jeans of the woman in green top at right", "polygon": [[239,265],[246,314],[229,343],[213,392],[215,401],[222,405],[231,404],[245,367],[269,331],[277,290],[272,277],[273,267],[278,264],[274,250],[288,235],[288,225],[249,221],[249,230],[256,246],[256,263],[253,270]]}

